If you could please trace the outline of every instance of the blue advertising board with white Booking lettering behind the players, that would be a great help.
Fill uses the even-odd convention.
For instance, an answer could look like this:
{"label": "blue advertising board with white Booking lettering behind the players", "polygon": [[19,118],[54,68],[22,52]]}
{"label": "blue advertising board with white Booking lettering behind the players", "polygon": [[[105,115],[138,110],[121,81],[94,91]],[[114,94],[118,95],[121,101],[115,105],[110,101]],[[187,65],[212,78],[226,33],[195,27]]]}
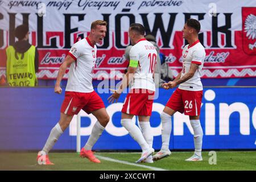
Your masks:
{"label": "blue advertising board with white Booking lettering behind the players", "polygon": [[[108,90],[108,89],[106,89]],[[96,89],[96,92],[99,93]],[[150,124],[154,133],[153,147],[161,147],[160,113],[174,89],[156,92]],[[99,93],[110,122],[93,150],[140,150],[137,142],[121,126],[121,109],[126,94],[117,104],[109,104],[111,93]],[[0,150],[40,150],[60,116],[64,99],[53,88],[0,88]],[[201,125],[203,150],[256,149],[256,88],[204,88]],[[80,112],[81,146],[89,138],[96,118]],[[53,150],[76,149],[76,118],[61,135]],[[133,122],[138,124],[138,118]],[[192,150],[193,130],[189,118],[176,113],[172,117],[171,150]]]}

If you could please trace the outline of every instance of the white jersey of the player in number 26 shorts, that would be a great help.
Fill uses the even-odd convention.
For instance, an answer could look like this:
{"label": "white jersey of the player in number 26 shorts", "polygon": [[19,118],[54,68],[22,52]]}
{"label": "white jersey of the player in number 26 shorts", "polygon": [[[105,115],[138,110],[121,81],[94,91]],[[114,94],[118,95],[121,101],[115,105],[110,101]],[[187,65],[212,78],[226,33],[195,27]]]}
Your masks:
{"label": "white jersey of the player in number 26 shorts", "polygon": [[199,64],[199,68],[195,72],[194,76],[189,80],[183,82],[179,85],[179,89],[199,91],[203,90],[203,85],[201,82],[201,71],[204,65],[205,59],[205,49],[202,44],[197,40],[191,46],[186,45],[182,51],[183,57],[183,68],[181,71],[181,77],[188,73],[191,63]]}

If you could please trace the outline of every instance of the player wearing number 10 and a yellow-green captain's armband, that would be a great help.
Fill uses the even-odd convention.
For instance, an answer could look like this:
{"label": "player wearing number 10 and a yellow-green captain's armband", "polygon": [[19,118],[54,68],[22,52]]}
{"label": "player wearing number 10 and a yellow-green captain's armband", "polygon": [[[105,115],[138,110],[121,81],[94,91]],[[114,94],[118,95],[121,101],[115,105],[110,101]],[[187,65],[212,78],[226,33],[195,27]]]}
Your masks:
{"label": "player wearing number 10 and a yellow-green captain's armband", "polygon": [[[157,52],[154,45],[144,38],[144,33],[142,24],[130,25],[129,38],[134,45],[130,50],[130,64],[121,86],[108,100],[117,102],[122,90],[134,79],[123,104],[121,124],[142,148],[142,155],[137,163],[153,163],[153,135],[149,121],[155,93],[153,75]],[[142,131],[132,122],[134,115],[138,115]]]}

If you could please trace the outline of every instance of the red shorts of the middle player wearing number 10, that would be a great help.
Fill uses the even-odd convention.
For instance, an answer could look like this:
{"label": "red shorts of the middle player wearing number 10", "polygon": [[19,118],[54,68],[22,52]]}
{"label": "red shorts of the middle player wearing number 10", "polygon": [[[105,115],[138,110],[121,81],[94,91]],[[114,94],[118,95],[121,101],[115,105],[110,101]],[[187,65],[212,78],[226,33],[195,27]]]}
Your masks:
{"label": "red shorts of the middle player wearing number 10", "polygon": [[147,115],[152,113],[155,92],[147,89],[131,89],[125,98],[122,113]]}

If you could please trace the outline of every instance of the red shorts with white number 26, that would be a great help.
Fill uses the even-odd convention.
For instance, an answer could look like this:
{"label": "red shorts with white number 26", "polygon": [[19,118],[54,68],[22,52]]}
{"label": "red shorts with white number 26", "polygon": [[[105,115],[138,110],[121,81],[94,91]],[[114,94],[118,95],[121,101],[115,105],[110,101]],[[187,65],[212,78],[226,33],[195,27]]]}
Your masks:
{"label": "red shorts with white number 26", "polygon": [[177,88],[166,106],[185,115],[200,115],[203,90],[189,91]]}

